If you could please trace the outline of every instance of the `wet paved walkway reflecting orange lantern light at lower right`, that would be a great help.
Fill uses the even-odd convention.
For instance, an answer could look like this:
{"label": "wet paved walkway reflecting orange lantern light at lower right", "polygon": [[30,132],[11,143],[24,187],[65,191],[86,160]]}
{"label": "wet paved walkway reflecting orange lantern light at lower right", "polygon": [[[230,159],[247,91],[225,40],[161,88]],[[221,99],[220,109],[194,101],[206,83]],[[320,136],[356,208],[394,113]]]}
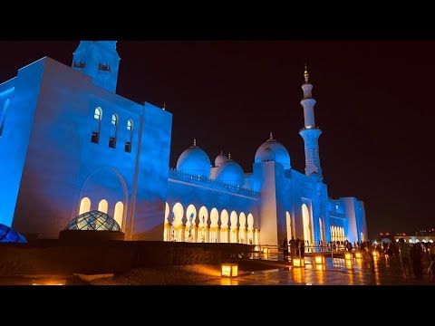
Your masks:
{"label": "wet paved walkway reflecting orange lantern light at lower right", "polygon": [[326,258],[326,264],[315,265],[314,257],[305,257],[305,267],[280,267],[254,272],[237,278],[214,278],[204,285],[435,285],[423,264],[423,279],[405,278],[401,263],[395,257],[386,260],[356,260],[346,263],[341,258]]}

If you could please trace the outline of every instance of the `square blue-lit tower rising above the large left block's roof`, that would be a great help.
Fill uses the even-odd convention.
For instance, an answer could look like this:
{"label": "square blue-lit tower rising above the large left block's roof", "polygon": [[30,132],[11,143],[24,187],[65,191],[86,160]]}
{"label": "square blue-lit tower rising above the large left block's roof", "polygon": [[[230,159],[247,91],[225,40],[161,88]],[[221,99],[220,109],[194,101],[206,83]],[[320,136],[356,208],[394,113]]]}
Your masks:
{"label": "square blue-lit tower rising above the large left block's roof", "polygon": [[73,53],[73,69],[91,76],[95,85],[116,92],[120,60],[116,41],[80,41]]}

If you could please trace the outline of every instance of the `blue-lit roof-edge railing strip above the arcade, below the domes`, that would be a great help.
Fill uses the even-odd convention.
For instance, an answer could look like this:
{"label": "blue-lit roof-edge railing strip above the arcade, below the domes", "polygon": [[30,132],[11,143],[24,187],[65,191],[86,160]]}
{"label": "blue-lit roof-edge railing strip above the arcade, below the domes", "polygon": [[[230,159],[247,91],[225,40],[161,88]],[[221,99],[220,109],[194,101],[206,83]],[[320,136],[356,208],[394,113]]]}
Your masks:
{"label": "blue-lit roof-edge railing strip above the arcade, below the domes", "polygon": [[217,179],[212,179],[211,177],[206,176],[200,176],[200,175],[193,175],[184,171],[179,171],[176,168],[170,168],[169,169],[169,176],[177,178],[179,180],[185,180],[185,181],[194,181],[195,183],[201,184],[201,185],[207,185],[207,187],[211,187],[214,189],[220,189],[220,190],[227,190],[231,191],[237,194],[247,195],[247,196],[254,196],[258,197],[259,194],[247,187],[240,187],[236,185],[228,184],[227,182],[218,181]]}

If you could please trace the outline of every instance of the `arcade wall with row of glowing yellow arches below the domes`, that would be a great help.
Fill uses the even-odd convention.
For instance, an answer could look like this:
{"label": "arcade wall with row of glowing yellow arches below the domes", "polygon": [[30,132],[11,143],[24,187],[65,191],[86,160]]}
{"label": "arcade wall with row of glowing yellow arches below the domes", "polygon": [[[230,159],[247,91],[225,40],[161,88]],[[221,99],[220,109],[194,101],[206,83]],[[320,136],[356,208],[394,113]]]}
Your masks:
{"label": "arcade wall with row of glowing yellow arches below the domes", "polygon": [[[169,178],[167,202],[165,221],[172,225],[167,241],[188,241],[191,231],[192,242],[255,243],[254,230],[259,228],[255,194],[237,194],[174,177]],[[188,232],[177,233],[180,228]]]}

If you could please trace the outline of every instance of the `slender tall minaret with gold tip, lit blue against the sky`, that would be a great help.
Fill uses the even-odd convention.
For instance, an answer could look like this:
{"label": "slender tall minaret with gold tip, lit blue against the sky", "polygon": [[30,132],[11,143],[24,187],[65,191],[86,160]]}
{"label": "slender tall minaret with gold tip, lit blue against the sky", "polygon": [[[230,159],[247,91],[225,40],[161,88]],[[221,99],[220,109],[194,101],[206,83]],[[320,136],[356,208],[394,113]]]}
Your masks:
{"label": "slender tall minaret with gold tip, lit blue against the sky", "polygon": [[319,158],[319,137],[322,131],[315,127],[314,121],[314,105],[312,90],[313,85],[308,81],[308,71],[304,71],[305,82],[302,85],[304,91],[304,99],[301,100],[301,104],[304,107],[304,128],[299,131],[299,134],[304,139],[305,148],[305,175],[310,176],[316,172],[322,177],[322,168],[320,168]]}

